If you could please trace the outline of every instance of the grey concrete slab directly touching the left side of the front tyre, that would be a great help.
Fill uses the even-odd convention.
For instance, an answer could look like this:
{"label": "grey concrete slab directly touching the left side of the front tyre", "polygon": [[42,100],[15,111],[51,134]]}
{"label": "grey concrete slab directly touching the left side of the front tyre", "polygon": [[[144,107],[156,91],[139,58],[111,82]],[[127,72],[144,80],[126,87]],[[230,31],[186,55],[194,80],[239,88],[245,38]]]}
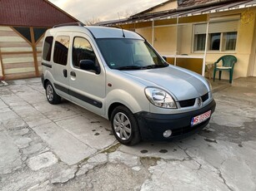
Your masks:
{"label": "grey concrete slab directly touching the left side of the front tyre", "polygon": [[[101,120],[106,122],[104,119]],[[84,144],[95,149],[104,149],[116,141],[110,131],[105,129],[106,125],[103,125],[99,120],[91,121],[83,116],[76,116],[68,120],[58,121],[56,124],[63,127]]]}

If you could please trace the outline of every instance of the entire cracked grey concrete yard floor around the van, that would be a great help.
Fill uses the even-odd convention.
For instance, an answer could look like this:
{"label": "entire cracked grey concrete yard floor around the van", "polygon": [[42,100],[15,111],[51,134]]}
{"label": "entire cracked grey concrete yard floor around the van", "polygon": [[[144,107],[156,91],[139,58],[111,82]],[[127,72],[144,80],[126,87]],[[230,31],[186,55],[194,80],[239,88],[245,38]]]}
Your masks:
{"label": "entire cracked grey concrete yard floor around the van", "polygon": [[1,190],[256,190],[256,78],[216,91],[201,132],[173,142],[115,140],[108,120],[39,78],[0,86]]}

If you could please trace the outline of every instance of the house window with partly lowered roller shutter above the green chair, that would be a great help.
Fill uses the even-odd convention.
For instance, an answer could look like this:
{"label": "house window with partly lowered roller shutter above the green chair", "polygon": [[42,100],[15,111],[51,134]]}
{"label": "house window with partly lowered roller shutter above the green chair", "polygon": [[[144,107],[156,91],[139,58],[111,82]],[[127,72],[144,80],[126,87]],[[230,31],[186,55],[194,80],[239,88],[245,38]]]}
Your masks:
{"label": "house window with partly lowered roller shutter above the green chair", "polygon": [[[238,21],[210,22],[208,26],[208,51],[235,51]],[[193,51],[204,51],[207,24],[194,25]]]}

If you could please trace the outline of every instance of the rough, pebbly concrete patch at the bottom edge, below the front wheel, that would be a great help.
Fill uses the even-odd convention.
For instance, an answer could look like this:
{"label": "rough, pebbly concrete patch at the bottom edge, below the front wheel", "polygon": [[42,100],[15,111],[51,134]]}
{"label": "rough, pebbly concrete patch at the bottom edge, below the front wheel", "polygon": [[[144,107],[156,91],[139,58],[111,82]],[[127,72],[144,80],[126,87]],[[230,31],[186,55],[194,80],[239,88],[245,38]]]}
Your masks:
{"label": "rough, pebbly concrete patch at the bottom edge, below the front wheel", "polygon": [[147,170],[135,171],[125,164],[105,164],[91,169],[79,179],[68,184],[58,184],[56,190],[140,190],[144,179],[149,179]]}

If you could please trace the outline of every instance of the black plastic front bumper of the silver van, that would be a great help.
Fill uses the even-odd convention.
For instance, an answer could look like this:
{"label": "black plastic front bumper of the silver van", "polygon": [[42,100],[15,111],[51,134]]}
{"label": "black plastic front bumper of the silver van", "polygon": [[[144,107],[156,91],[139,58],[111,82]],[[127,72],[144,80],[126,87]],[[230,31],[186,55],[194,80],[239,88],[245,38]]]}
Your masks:
{"label": "black plastic front bumper of the silver van", "polygon": [[[211,110],[213,114],[215,106],[216,102],[212,100],[203,108],[186,113],[163,115],[142,111],[136,113],[135,116],[143,140],[173,140],[174,138],[181,138],[202,130],[203,127],[208,125],[210,118],[198,125],[191,126],[192,118],[208,110]],[[173,134],[165,138],[163,137],[165,130],[172,130]]]}

